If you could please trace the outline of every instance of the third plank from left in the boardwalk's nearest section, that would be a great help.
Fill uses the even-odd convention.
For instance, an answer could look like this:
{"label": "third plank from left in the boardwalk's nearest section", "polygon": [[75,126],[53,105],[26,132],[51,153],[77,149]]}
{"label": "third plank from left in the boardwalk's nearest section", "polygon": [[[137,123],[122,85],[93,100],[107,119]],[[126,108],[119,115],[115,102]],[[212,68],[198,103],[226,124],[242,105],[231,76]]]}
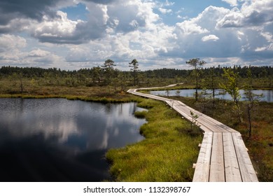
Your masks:
{"label": "third plank from left in the boardwalk's nearest section", "polygon": [[223,133],[223,147],[225,160],[225,181],[241,182],[241,173],[239,170],[235,146],[233,144],[232,134]]}

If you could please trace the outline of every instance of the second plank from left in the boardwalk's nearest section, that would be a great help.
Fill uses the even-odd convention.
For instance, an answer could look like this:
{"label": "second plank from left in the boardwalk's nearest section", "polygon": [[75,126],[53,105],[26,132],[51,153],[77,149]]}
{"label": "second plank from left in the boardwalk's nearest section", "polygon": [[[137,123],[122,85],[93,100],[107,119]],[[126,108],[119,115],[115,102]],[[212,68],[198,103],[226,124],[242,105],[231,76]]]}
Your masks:
{"label": "second plank from left in the boardwalk's nearest section", "polygon": [[209,181],[210,182],[225,181],[223,137],[221,132],[214,132],[214,139],[211,150],[211,171],[209,172]]}

